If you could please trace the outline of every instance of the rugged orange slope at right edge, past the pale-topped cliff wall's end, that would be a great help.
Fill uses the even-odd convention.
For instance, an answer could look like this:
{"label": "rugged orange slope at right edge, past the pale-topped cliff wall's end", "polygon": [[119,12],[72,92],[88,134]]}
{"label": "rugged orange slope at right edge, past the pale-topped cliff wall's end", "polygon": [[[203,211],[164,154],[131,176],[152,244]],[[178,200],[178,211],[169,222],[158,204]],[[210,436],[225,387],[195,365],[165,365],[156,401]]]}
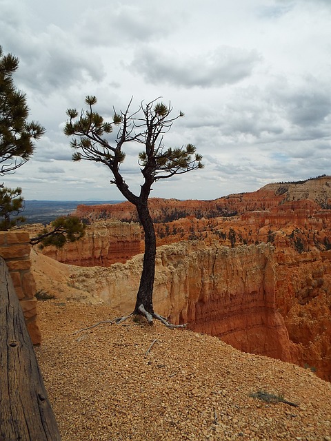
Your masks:
{"label": "rugged orange slope at right edge, past the pale-topped cliff wall's end", "polygon": [[290,340],[299,347],[294,361],[330,381],[331,251],[276,254],[276,305]]}

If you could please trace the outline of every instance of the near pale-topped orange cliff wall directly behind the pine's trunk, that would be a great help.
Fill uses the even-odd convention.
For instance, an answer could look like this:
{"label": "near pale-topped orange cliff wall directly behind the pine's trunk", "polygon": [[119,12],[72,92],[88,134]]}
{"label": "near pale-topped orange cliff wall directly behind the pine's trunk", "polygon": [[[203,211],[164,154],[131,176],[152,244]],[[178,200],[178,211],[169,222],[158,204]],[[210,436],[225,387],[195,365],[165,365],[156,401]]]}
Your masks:
{"label": "near pale-topped orange cliff wall directly behind the pine's trunk", "polygon": [[[276,267],[265,244],[230,249],[188,241],[159,247],[154,309],[237,349],[294,361],[295,345],[275,302]],[[140,274],[141,256],[135,256],[124,265],[79,271],[71,280],[127,314],[134,309]]]}

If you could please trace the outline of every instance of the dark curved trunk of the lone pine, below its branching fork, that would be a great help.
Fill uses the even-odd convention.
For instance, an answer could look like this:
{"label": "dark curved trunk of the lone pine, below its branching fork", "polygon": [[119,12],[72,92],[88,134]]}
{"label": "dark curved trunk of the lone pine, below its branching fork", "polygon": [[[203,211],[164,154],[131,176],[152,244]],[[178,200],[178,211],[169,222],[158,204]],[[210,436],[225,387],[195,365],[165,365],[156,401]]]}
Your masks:
{"label": "dark curved trunk of the lone pine, below its branching fork", "polygon": [[155,256],[157,254],[157,240],[150,212],[148,201],[136,205],[139,220],[143,225],[145,233],[145,253],[143,255],[143,271],[141,273],[139,290],[137,293],[136,306],[134,314],[140,314],[139,307],[143,305],[144,309],[150,314],[154,314],[153,308],[153,287],[155,276]]}

